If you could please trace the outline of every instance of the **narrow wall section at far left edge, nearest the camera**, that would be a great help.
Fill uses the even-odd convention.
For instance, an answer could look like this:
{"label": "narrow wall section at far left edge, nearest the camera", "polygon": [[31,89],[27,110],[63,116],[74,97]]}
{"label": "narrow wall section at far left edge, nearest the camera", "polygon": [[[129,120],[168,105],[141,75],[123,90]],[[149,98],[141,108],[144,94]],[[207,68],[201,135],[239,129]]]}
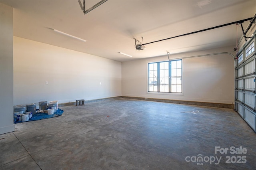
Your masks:
{"label": "narrow wall section at far left edge, nearest the camera", "polygon": [[12,32],[12,8],[0,3],[0,134],[14,131]]}

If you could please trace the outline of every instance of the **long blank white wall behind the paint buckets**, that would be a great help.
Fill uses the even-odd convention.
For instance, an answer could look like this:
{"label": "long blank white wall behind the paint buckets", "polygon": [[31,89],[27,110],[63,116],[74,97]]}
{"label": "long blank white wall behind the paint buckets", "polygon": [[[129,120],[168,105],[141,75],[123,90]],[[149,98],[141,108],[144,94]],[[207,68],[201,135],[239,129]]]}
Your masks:
{"label": "long blank white wall behind the paint buckets", "polygon": [[14,105],[121,96],[121,76],[118,61],[14,36]]}

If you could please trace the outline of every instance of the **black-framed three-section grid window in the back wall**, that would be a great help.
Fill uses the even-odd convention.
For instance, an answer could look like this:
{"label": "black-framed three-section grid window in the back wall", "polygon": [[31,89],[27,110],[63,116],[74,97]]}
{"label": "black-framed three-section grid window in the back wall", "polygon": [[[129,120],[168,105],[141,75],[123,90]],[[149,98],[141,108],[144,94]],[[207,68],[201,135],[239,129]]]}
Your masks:
{"label": "black-framed three-section grid window in the back wall", "polygon": [[182,93],[182,60],[148,63],[148,92]]}

